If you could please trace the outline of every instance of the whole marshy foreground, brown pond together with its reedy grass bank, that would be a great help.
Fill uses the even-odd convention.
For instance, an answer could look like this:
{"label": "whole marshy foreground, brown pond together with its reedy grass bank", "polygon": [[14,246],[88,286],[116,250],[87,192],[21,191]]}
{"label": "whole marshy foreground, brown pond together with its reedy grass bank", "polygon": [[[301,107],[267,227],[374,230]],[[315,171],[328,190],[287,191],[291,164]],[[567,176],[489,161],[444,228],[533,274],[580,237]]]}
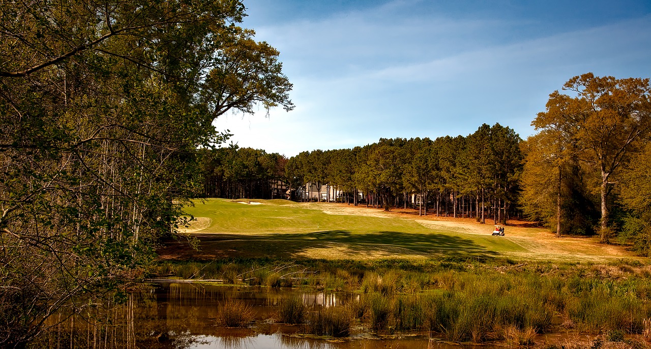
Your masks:
{"label": "whole marshy foreground, brown pond together with its reedy grass bank", "polygon": [[[168,273],[195,267],[200,268],[201,263],[161,266]],[[612,342],[622,344],[620,348],[644,348],[651,339],[648,267],[475,267],[428,272],[399,268],[316,272],[293,263],[255,268],[227,263],[224,272],[242,268],[256,271],[258,276],[240,273],[233,274],[231,280],[219,279],[230,281],[228,284],[216,283],[217,274],[212,275],[212,282],[168,279],[150,283],[129,293],[120,304],[72,317],[56,315],[50,319],[55,326],[31,345],[440,348],[482,344],[568,348],[583,343],[585,348],[598,349]],[[264,272],[277,274],[271,278],[276,287],[260,285],[266,282]]]}

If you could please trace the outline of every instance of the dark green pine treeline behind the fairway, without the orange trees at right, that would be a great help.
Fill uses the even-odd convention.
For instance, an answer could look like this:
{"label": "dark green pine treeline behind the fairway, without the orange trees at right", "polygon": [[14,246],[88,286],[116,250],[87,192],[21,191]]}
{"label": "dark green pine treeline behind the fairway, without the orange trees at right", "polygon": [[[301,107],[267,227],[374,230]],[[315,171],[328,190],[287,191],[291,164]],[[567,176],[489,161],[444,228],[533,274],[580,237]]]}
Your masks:
{"label": "dark green pine treeline behind the fairway, without the orange trees at right", "polygon": [[204,194],[264,198],[269,189],[262,184],[283,180],[294,193],[308,184],[319,192],[326,186],[324,199],[330,201],[506,221],[519,213],[520,141],[511,128],[484,124],[467,137],[380,139],[353,149],[305,151],[288,160],[264,150],[216,149],[204,162]]}

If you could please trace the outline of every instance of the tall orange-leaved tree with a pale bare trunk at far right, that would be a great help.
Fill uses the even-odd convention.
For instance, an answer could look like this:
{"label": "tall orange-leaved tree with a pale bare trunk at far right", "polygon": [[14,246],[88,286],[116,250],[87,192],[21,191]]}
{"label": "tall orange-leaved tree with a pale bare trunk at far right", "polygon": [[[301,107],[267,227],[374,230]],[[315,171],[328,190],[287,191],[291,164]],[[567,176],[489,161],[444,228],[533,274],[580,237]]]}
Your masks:
{"label": "tall orange-leaved tree with a pale bare trunk at far right", "polygon": [[563,90],[575,97],[554,91],[546,112],[533,121],[537,128],[562,125],[574,138],[579,158],[594,165],[600,173],[601,236],[609,239],[608,197],[610,180],[651,127],[651,86],[648,78],[595,77],[587,73],[570,78]]}

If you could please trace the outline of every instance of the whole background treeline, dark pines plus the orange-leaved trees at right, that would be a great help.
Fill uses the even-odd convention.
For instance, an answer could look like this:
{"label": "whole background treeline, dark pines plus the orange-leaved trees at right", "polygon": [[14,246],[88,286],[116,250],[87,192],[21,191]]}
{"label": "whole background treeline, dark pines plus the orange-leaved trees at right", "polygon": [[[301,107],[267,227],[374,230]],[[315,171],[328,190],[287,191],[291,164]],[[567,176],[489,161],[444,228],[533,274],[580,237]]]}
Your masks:
{"label": "whole background treeline, dark pines plus the orange-leaved trees at right", "polygon": [[246,193],[249,182],[270,186],[283,180],[294,193],[309,191],[309,184],[320,193],[318,200],[385,210],[409,206],[423,215],[495,223],[521,215],[559,237],[600,234],[603,242],[618,237],[650,254],[649,79],[588,73],[568,80],[563,90],[568,94],[549,95],[546,111],[532,122],[538,133],[525,141],[511,128],[484,124],[465,137],[380,139],[289,159],[262,150],[221,149],[212,156],[225,167],[208,172],[212,180],[224,178],[223,186],[238,188],[219,189],[223,197],[255,195]]}

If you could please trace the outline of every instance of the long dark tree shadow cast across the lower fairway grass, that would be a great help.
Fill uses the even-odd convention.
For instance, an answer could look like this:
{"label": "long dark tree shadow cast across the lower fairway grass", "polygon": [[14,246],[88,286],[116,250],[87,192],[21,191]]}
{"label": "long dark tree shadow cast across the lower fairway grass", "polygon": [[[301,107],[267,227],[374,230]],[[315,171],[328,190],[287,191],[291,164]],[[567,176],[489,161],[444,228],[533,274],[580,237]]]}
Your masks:
{"label": "long dark tree shadow cast across the lower fairway grass", "polygon": [[352,234],[347,230],[327,230],[305,234],[195,234],[195,237],[201,241],[199,251],[176,245],[163,248],[159,254],[175,254],[171,259],[305,258],[316,249],[333,248],[333,256],[342,254],[341,258],[378,254],[484,258],[499,255],[464,237],[395,231]]}

